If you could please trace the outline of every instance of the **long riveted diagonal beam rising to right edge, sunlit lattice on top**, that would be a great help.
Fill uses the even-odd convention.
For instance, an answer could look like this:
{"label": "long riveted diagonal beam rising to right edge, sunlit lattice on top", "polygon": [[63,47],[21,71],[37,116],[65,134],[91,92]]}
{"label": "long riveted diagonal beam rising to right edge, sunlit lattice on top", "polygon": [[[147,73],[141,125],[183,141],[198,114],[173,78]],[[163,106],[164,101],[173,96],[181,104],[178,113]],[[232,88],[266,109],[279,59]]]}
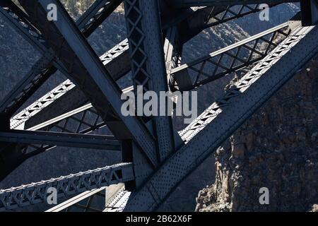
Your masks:
{"label": "long riveted diagonal beam rising to right edge, sunlit lattice on top", "polygon": [[269,100],[318,52],[317,26],[298,28],[257,66],[235,83],[182,132],[187,144],[177,150],[131,194],[126,211],[157,209],[208,155],[218,148],[261,105]]}

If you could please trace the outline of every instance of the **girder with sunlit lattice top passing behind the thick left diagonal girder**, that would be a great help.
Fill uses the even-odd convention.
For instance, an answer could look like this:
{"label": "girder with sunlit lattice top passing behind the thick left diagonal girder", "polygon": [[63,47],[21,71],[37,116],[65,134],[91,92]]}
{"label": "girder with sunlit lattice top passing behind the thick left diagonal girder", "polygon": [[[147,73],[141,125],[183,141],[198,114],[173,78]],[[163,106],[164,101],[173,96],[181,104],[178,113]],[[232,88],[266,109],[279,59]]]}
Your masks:
{"label": "girder with sunlit lattice top passing behind the thick left diagonal girder", "polygon": [[[128,49],[128,42],[124,40],[100,57],[105,69],[114,80],[122,78],[130,69],[129,63],[125,63],[129,62],[128,54],[124,54],[126,49]],[[11,129],[16,129],[18,126],[20,129],[28,129],[81,107],[86,102],[88,102],[88,98],[83,92],[74,83],[66,80],[32,105],[23,109],[22,112],[16,114],[11,119]]]}

